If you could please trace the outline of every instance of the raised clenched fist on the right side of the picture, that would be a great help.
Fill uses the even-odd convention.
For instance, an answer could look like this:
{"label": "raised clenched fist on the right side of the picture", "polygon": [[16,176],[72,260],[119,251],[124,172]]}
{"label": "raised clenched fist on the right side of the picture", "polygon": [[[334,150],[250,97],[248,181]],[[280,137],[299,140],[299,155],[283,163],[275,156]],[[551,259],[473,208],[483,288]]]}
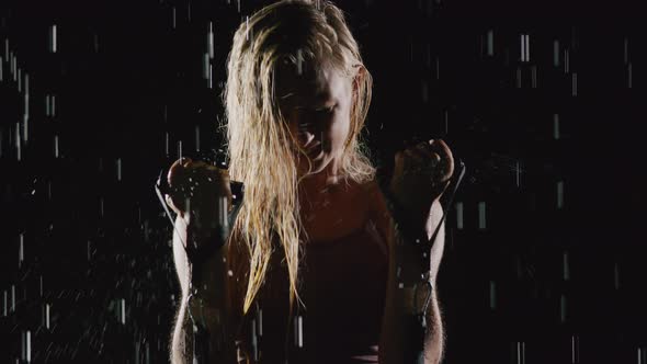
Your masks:
{"label": "raised clenched fist on the right side of the picture", "polygon": [[422,141],[396,153],[390,192],[411,223],[423,228],[432,204],[443,195],[453,174],[450,147],[442,139]]}

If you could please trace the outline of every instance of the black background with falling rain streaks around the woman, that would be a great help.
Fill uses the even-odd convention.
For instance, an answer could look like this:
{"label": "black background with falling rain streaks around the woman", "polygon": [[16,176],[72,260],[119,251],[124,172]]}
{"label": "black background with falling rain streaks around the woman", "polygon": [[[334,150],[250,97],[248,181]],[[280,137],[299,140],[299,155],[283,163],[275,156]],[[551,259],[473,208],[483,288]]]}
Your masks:
{"label": "black background with falling rain streaks around the woman", "polygon": [[[154,182],[218,147],[231,36],[264,3],[2,2],[0,362],[168,361],[179,285]],[[638,2],[337,3],[375,81],[376,164],[443,137],[467,167],[445,363],[646,363]]]}

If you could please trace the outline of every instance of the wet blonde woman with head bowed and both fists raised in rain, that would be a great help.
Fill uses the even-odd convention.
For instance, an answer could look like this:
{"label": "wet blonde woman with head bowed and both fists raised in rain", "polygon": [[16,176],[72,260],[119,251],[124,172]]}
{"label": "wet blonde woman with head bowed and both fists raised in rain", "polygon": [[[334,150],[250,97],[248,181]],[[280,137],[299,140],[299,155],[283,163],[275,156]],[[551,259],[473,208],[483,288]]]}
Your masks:
{"label": "wet blonde woman with head bowed and both fists raised in rain", "polygon": [[[423,274],[434,287],[444,234],[418,255],[402,241],[412,230],[431,239],[454,166],[442,140],[396,155],[387,192],[402,212],[400,226],[410,227],[398,234],[359,141],[371,88],[330,2],[280,1],[240,25],[224,93],[230,168],[183,159],[169,172],[183,296],[173,363],[192,351],[188,314],[205,322],[217,363],[236,351],[243,362],[404,362],[415,341],[407,320],[421,307],[405,276]],[[243,203],[227,244],[209,249],[217,242],[206,227],[217,198],[231,201],[229,178],[245,183]],[[192,270],[186,241],[204,251]],[[191,283],[200,307],[186,300]],[[435,292],[427,293],[423,354],[438,363],[442,325]]]}

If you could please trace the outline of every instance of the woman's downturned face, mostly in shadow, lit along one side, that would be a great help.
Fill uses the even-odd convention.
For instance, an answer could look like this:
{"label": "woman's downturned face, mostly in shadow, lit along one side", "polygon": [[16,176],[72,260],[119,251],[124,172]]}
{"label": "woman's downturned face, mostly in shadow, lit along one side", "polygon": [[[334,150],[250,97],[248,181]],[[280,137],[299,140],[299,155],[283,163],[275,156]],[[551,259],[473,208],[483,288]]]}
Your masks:
{"label": "woman's downturned face, mostly in shadow, lit along one side", "polygon": [[[351,79],[332,67],[304,67],[300,75],[291,67],[280,69],[276,95],[281,112],[310,160],[311,174],[325,169],[337,174],[351,130],[352,93]],[[307,159],[299,155],[299,174],[308,171]]]}

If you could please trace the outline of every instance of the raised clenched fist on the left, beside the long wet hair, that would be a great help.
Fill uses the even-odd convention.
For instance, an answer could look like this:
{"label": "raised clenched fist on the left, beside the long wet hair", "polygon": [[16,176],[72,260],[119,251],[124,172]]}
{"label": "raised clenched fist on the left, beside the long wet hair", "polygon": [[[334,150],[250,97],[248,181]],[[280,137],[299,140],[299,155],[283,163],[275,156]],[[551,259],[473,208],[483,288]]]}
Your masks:
{"label": "raised clenched fist on the left, beside the long wet hair", "polygon": [[205,240],[202,237],[209,237],[214,229],[228,224],[232,196],[226,169],[181,158],[171,164],[167,178],[167,204],[184,220],[186,234],[196,237],[198,243]]}

